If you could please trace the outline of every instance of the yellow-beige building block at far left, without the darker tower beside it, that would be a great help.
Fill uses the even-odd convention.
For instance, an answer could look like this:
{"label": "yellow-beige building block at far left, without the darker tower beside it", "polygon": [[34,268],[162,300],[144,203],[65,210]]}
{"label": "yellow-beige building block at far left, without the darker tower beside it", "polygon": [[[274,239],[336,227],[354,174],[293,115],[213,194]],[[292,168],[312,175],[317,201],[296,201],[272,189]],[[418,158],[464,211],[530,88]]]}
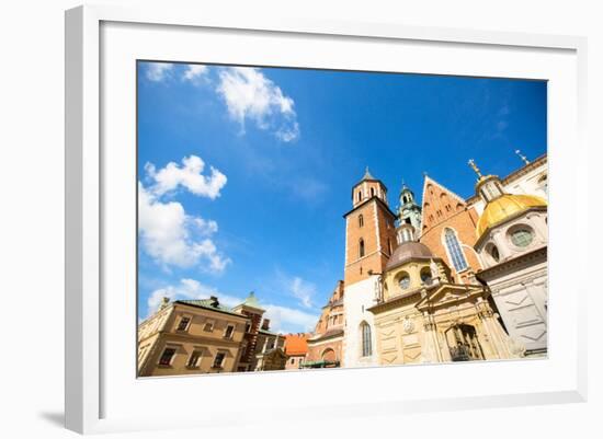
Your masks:
{"label": "yellow-beige building block at far left, without the darker tower beside it", "polygon": [[237,370],[249,319],[205,300],[164,299],[138,326],[138,376],[220,373]]}

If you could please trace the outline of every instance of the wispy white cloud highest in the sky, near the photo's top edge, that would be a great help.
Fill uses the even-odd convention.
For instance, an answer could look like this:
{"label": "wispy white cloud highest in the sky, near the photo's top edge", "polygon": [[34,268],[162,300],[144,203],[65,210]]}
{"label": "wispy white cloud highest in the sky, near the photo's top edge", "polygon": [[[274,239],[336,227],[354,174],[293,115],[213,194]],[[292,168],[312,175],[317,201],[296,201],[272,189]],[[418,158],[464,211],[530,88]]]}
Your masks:
{"label": "wispy white cloud highest in the sky, near the photo's top edge", "polygon": [[260,129],[273,130],[284,142],[299,137],[293,99],[284,95],[259,69],[230,67],[220,70],[217,92],[224,99],[228,114],[243,131],[249,119]]}

